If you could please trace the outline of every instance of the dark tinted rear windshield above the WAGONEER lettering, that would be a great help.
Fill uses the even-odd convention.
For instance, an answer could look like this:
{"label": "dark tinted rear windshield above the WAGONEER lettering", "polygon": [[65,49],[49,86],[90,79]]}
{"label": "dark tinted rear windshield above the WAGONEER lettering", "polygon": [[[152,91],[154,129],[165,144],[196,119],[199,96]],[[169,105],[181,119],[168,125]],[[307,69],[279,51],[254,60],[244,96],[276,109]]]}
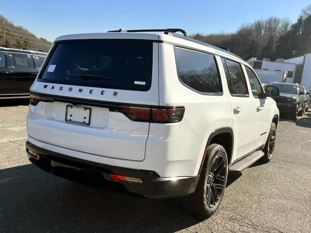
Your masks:
{"label": "dark tinted rear windshield above the WAGONEER lettering", "polygon": [[147,91],[152,42],[69,42],[55,45],[38,81]]}

